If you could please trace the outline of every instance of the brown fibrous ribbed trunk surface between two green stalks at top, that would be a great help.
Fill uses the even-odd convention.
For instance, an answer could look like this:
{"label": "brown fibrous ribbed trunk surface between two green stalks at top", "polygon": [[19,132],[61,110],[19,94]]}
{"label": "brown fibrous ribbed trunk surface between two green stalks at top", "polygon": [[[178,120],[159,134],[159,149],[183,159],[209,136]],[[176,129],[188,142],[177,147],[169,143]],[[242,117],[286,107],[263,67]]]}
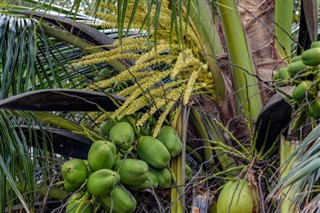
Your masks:
{"label": "brown fibrous ribbed trunk surface between two green stalks at top", "polygon": [[[270,81],[272,72],[284,66],[274,36],[274,0],[238,0],[238,8],[257,73],[262,81]],[[271,92],[267,82],[260,83],[264,102]]]}

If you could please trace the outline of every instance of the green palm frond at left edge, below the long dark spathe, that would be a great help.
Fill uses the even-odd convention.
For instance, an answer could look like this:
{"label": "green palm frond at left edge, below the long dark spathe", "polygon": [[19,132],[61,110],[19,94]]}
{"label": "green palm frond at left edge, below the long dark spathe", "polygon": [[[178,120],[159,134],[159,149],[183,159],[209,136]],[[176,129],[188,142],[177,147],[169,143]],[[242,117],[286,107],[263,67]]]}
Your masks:
{"label": "green palm frond at left edge, below the long dark spathe", "polygon": [[[26,143],[26,140],[29,140],[29,138],[24,137],[19,130],[13,128],[13,126],[20,123],[16,116],[4,110],[0,111],[0,115],[0,137],[2,141],[0,149],[0,173],[6,177],[1,179],[1,185],[5,186],[4,189],[8,195],[2,197],[2,202],[6,205],[2,205],[1,208],[5,208],[6,206],[10,208],[14,204],[21,203],[26,210],[32,209],[32,205],[35,202],[33,186],[36,182],[36,161],[32,157],[30,148]],[[30,121],[28,123],[32,125]],[[37,144],[36,141],[33,141],[33,143]],[[20,184],[24,184],[28,194],[20,193]],[[19,202],[17,202],[17,199]]]}

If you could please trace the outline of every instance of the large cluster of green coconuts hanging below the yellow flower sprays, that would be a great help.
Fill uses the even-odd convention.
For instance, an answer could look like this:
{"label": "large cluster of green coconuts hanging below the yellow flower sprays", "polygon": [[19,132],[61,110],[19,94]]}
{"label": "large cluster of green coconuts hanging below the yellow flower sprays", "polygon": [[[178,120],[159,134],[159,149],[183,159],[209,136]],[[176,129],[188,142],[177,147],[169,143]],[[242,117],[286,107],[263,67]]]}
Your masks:
{"label": "large cluster of green coconuts hanging below the yellow flower sprays", "polygon": [[157,138],[136,137],[129,122],[106,121],[100,126],[106,140],[94,141],[87,160],[72,159],[62,167],[68,192],[77,192],[67,212],[92,212],[102,204],[108,212],[129,213],[136,209],[133,191],[170,187],[168,164],[181,153],[176,130],[163,126]]}

